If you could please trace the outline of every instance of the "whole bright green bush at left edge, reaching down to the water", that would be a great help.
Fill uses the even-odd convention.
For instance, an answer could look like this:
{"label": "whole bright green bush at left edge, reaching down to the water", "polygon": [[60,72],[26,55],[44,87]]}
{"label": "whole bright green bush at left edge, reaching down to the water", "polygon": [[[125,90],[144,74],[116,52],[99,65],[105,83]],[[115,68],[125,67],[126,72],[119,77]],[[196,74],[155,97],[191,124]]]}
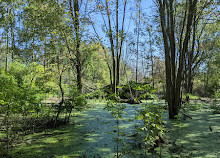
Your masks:
{"label": "whole bright green bush at left edge, reaching down to the water", "polygon": [[[35,76],[41,75],[42,70],[38,64],[25,65],[19,62],[10,63],[8,71],[0,70],[1,131],[6,137],[7,149],[18,138],[19,130],[26,133],[30,128],[36,127],[35,118],[39,118],[39,105],[45,91],[36,85]],[[34,124],[30,125],[27,118],[34,120],[31,121]]]}

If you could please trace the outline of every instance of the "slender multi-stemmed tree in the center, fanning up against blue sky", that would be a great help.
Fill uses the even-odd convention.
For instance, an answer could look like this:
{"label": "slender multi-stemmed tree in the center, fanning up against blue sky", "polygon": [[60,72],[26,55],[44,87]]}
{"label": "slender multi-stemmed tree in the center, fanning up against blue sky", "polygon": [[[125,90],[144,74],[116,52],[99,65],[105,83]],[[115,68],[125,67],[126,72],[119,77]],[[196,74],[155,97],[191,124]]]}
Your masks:
{"label": "slender multi-stemmed tree in the center, fanning up against blue sky", "polygon": [[[116,25],[115,27],[112,25],[113,18],[111,8],[109,6],[115,3],[115,17]],[[120,84],[120,63],[121,63],[121,56],[122,56],[122,48],[123,43],[125,40],[125,33],[124,33],[124,23],[125,23],[125,16],[126,16],[126,6],[127,0],[123,3],[123,17],[122,17],[122,24],[121,29],[119,29],[119,0],[116,2],[105,0],[105,4],[102,3],[101,0],[97,1],[98,9],[100,10],[100,14],[103,18],[104,22],[104,30],[107,33],[107,37],[109,40],[110,51],[111,51],[111,60],[112,66],[111,71],[112,73],[112,92],[115,93],[117,91],[117,86]],[[104,11],[104,12],[103,12]],[[107,16],[107,20],[105,19],[104,15]],[[108,22],[106,22],[108,21]],[[115,28],[115,30],[114,30]],[[116,46],[116,47],[115,47]]]}

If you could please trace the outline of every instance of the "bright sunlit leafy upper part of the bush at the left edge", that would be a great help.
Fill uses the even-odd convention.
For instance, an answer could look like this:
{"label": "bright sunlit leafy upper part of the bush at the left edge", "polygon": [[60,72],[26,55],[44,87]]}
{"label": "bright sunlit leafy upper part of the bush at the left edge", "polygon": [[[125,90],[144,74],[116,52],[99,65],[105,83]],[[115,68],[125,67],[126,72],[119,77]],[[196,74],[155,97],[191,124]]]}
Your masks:
{"label": "bright sunlit leafy upper part of the bush at the left edge", "polygon": [[[2,108],[10,106],[12,113],[23,113],[27,115],[37,109],[39,102],[43,99],[44,90],[37,86],[36,73],[42,73],[40,66],[35,67],[35,73],[32,73],[31,68],[14,62],[10,69],[5,72],[1,71],[0,83],[1,91],[0,98]],[[44,82],[46,83],[46,82]],[[41,86],[43,86],[41,84]],[[5,111],[5,108],[2,109]]]}

